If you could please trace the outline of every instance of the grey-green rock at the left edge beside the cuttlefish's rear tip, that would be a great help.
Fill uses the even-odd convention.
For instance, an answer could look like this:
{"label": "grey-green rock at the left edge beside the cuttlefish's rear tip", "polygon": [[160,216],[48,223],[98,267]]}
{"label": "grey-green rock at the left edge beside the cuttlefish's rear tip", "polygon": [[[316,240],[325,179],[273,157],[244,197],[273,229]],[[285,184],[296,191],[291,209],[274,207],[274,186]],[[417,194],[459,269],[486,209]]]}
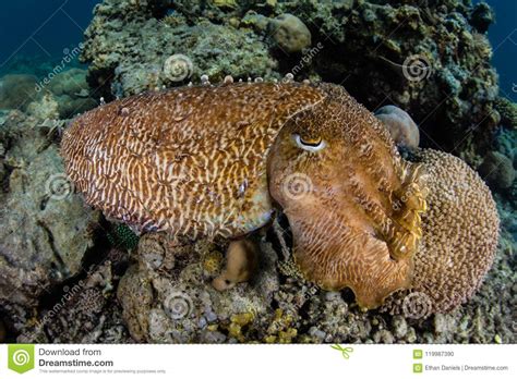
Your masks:
{"label": "grey-green rock at the left edge beside the cuttlefish's rear tip", "polygon": [[16,322],[52,285],[81,271],[100,213],[84,207],[40,121],[11,112],[0,129],[0,299]]}

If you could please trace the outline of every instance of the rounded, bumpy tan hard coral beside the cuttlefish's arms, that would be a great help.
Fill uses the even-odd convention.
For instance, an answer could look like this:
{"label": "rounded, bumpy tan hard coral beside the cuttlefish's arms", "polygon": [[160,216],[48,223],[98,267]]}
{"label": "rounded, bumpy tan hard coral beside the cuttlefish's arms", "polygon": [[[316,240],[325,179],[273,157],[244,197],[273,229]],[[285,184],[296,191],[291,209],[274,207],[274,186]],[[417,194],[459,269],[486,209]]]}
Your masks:
{"label": "rounded, bumpy tan hard coral beside the cuttlefish's arms", "polygon": [[446,313],[472,296],[494,259],[498,216],[490,190],[464,161],[420,150],[429,210],[414,257],[411,291],[430,299],[430,313]]}

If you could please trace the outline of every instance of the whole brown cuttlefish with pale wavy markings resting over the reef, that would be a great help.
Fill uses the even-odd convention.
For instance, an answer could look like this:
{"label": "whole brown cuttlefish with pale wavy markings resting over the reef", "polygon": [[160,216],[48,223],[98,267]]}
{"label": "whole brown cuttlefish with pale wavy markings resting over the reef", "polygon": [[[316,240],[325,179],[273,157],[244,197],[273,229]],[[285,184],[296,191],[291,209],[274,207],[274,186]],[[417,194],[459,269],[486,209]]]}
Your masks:
{"label": "whole brown cuttlefish with pale wavy markings resting over the reef", "polygon": [[146,93],[79,117],[61,150],[89,205],[144,232],[240,244],[280,209],[294,262],[321,288],[374,308],[414,281],[424,167],[338,85]]}

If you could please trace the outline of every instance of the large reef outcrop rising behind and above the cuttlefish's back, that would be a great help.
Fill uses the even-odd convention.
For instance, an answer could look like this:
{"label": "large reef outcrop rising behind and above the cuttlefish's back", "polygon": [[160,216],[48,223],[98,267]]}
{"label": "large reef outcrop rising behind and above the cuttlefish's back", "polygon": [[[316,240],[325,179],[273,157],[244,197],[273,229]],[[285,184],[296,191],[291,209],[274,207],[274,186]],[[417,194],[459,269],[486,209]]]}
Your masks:
{"label": "large reef outcrop rising behind and above the cuttlefish's back", "polygon": [[[496,74],[483,34],[493,17],[484,3],[224,3],[105,1],[95,10],[82,56],[92,63],[89,82],[103,86],[106,98],[180,85],[161,69],[167,57],[182,53],[192,61],[194,80],[293,72],[297,80],[340,83],[369,109],[393,103],[408,111],[423,132],[423,146],[467,149],[465,137],[473,133],[481,136],[472,138],[474,150],[482,154],[497,125]],[[306,53],[287,53],[293,50],[289,42],[275,40],[277,28],[270,26],[278,17],[294,20],[286,14],[300,26],[285,35],[304,40],[296,50],[304,46]],[[292,37],[293,28],[305,37]]]}

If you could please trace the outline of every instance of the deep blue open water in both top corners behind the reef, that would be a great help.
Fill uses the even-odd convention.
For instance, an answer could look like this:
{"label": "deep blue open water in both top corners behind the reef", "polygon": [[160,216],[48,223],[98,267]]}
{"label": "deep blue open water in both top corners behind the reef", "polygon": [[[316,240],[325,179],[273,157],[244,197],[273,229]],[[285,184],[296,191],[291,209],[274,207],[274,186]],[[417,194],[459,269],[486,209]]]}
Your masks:
{"label": "deep blue open water in both top corners behind the reef", "polygon": [[[473,2],[479,2],[474,0]],[[500,74],[501,94],[517,101],[517,1],[485,0],[496,13],[489,29],[493,64]],[[20,69],[20,58],[59,60],[63,49],[81,40],[100,0],[2,1],[0,12],[0,74]],[[35,72],[37,74],[37,72]]]}

